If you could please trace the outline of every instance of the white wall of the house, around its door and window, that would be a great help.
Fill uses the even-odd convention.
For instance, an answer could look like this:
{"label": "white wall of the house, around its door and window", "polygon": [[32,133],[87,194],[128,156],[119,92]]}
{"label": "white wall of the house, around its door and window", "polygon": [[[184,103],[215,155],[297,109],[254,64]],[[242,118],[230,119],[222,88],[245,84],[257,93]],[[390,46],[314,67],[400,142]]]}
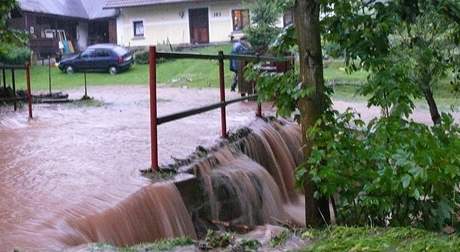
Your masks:
{"label": "white wall of the house, around its door and window", "polygon": [[[239,1],[187,3],[124,8],[117,18],[118,44],[148,46],[166,43],[190,43],[188,10],[208,8],[209,41],[229,41],[233,32],[232,10],[241,9]],[[183,17],[181,15],[183,14]],[[144,37],[134,37],[134,21],[143,21]]]}

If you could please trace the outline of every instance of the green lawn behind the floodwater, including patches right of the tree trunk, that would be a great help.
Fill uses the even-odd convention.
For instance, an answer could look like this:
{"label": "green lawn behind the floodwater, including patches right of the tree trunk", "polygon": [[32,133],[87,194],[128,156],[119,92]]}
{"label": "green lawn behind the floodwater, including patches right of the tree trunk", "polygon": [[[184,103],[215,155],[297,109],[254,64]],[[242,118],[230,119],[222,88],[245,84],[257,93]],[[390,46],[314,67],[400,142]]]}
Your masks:
{"label": "green lawn behind the floodwater, including patches right of the tree trunk", "polygon": [[[231,45],[209,46],[192,50],[196,53],[217,54],[218,51],[230,53]],[[218,63],[210,60],[171,60],[158,65],[157,78],[159,83],[176,87],[217,87],[219,84]],[[24,72],[16,74],[18,89],[25,87]],[[68,75],[62,73],[56,67],[52,68],[52,89],[62,91],[70,88],[82,87],[84,78],[82,73]],[[367,72],[359,71],[348,74],[345,71],[343,61],[334,60],[325,64],[324,76],[328,84],[334,85],[335,97],[344,100],[366,101],[366,97],[356,95],[360,85],[366,80]],[[10,73],[7,73],[7,82],[10,80]],[[229,62],[225,62],[225,83],[227,88],[232,83],[233,73],[229,70]],[[31,72],[32,89],[34,92],[48,90],[48,67],[35,65]],[[148,66],[136,65],[129,71],[112,76],[108,73],[87,74],[88,85],[147,85]],[[460,105],[459,99],[452,94],[446,82],[437,87],[434,92],[441,109],[448,109],[450,105]],[[425,102],[417,102],[425,107]]]}

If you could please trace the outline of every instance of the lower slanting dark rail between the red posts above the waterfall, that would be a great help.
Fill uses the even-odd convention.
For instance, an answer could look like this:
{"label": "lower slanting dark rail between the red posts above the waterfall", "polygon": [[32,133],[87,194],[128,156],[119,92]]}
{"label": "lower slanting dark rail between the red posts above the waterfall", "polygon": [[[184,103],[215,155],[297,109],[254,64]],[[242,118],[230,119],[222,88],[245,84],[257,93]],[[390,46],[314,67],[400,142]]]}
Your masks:
{"label": "lower slanting dark rail between the red posts above the waterfall", "polygon": [[161,124],[176,121],[176,120],[179,120],[179,119],[187,118],[187,117],[190,117],[190,116],[202,114],[204,112],[215,110],[215,109],[221,108],[223,106],[227,106],[227,105],[230,105],[230,104],[233,104],[233,103],[237,103],[237,102],[241,102],[241,101],[245,101],[245,100],[250,100],[250,99],[255,99],[255,98],[257,98],[257,95],[250,95],[250,96],[236,98],[236,99],[233,99],[233,100],[217,102],[217,103],[213,103],[213,104],[210,104],[210,105],[207,105],[207,106],[194,108],[194,109],[189,109],[189,110],[185,110],[185,111],[182,111],[182,112],[178,112],[178,113],[174,113],[174,114],[170,114],[170,115],[166,115],[166,116],[161,116],[161,117],[158,117],[158,119],[157,119],[157,125],[161,125]]}

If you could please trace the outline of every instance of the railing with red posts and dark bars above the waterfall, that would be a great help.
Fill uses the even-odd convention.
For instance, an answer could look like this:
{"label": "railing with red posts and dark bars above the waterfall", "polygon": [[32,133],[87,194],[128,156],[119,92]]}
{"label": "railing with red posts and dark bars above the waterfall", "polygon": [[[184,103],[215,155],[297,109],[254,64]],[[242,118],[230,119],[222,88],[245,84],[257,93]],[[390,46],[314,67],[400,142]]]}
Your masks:
{"label": "railing with red posts and dark bars above the waterfall", "polygon": [[[182,112],[158,117],[157,110],[157,59],[197,59],[197,60],[217,60],[219,62],[219,89],[220,102],[193,108]],[[225,71],[224,60],[241,60],[247,62],[282,62],[292,60],[292,57],[264,57],[250,55],[225,55],[220,51],[217,55],[212,54],[196,54],[196,53],[166,53],[157,52],[155,46],[149,48],[149,89],[150,89],[150,137],[151,137],[151,168],[154,171],[159,170],[158,164],[158,126],[168,122],[176,121],[186,117],[198,115],[211,110],[219,109],[221,111],[221,136],[227,138],[227,113],[226,107],[230,104],[255,99],[257,94],[248,95],[241,98],[226,100],[225,98]],[[262,104],[257,103],[256,116],[262,116]]]}

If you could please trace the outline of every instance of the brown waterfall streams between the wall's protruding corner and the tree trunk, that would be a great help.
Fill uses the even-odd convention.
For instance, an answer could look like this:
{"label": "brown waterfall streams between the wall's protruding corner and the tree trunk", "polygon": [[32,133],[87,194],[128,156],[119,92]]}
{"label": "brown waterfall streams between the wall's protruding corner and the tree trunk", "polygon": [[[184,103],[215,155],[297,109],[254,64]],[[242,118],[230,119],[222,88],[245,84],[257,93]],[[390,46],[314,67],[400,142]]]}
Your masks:
{"label": "brown waterfall streams between the wall's protruding corner and the tree trunk", "polygon": [[286,213],[299,202],[294,169],[302,158],[300,136],[295,124],[259,121],[249,134],[192,164],[207,191],[212,220],[249,226],[301,223]]}

